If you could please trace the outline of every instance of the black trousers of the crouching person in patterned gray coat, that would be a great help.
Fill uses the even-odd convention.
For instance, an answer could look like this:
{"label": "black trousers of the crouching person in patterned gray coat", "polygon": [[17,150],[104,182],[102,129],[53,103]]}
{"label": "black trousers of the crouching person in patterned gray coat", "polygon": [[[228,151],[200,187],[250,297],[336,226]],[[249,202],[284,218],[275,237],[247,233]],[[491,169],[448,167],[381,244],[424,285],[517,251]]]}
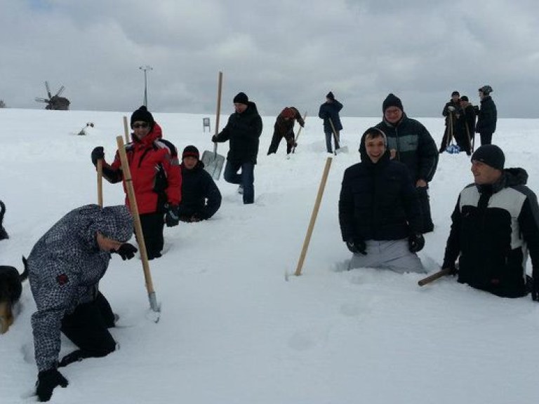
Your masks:
{"label": "black trousers of the crouching person in patterned gray coat", "polygon": [[101,357],[116,349],[107,328],[114,327],[114,314],[105,296],[98,292],[93,302],[79,304],[72,314],[62,318],[65,336],[84,351],[86,357]]}

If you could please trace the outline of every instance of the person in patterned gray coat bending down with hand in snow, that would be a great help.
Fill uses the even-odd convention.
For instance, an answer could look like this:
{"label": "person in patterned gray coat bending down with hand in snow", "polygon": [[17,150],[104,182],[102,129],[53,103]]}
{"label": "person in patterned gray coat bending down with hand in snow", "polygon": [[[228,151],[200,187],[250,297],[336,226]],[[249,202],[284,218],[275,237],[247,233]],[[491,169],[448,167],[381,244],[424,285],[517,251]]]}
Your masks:
{"label": "person in patterned gray coat bending down with hand in snow", "polygon": [[[137,249],[127,243],[132,234],[126,206],[87,205],[67,213],[32,248],[28,278],[37,307],[32,330],[40,401],[50,400],[55,387],[67,386],[58,367],[116,349],[107,330],[114,326],[114,314],[98,283],[111,253],[134,257]],[[60,332],[79,349],[58,362]]]}

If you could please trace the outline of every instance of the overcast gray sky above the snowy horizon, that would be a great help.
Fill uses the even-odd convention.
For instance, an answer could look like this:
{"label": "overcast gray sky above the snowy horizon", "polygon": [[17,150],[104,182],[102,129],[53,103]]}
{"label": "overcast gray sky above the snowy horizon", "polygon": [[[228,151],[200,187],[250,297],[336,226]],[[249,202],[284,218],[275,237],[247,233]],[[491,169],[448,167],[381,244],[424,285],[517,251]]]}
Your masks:
{"label": "overcast gray sky above the snowy horizon", "polygon": [[[244,91],[260,114],[309,116],[332,90],[342,116],[441,116],[453,90],[500,117],[538,118],[537,0],[0,0],[0,100],[43,108],[44,81],[72,109],[222,113]],[[308,119],[308,118],[307,118]]]}

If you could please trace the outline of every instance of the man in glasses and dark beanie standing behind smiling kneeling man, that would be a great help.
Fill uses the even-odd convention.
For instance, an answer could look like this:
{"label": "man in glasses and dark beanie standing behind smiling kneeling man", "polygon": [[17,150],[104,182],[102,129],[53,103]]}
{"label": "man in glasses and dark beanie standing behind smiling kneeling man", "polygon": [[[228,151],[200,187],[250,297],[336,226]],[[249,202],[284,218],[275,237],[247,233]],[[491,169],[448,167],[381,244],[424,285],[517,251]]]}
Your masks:
{"label": "man in glasses and dark beanie standing behind smiling kneeling man", "polygon": [[397,159],[408,168],[410,177],[418,192],[422,213],[422,233],[434,229],[430,215],[429,182],[436,173],[438,149],[425,126],[404,113],[399,97],[387,95],[382,111],[384,118],[376,128],[387,135],[387,147],[392,159]]}

